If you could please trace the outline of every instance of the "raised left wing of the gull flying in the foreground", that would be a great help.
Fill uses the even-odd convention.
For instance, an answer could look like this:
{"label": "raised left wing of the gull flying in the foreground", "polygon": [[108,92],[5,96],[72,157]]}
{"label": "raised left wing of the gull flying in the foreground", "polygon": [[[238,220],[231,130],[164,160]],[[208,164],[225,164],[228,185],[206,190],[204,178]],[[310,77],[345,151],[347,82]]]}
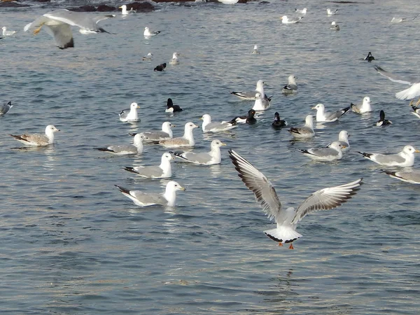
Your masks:
{"label": "raised left wing of the gull flying in the foreground", "polygon": [[283,221],[283,218],[281,218],[283,211],[281,211],[279,197],[277,197],[276,190],[267,177],[235,151],[230,150],[229,157],[235,165],[235,169],[239,172],[239,177],[245,186],[254,193],[255,199],[260,203],[268,218],[276,218],[278,223]]}

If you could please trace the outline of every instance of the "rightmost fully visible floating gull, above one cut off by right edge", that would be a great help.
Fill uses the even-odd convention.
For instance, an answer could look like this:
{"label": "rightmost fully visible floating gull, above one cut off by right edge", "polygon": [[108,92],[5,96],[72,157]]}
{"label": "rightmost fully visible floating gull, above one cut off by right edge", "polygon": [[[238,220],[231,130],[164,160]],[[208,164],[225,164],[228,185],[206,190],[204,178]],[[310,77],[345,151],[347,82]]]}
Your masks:
{"label": "rightmost fully visible floating gull, above one cut off by right edge", "polygon": [[398,154],[364,153],[359,152],[365,158],[388,167],[412,167],[414,165],[414,153],[420,153],[412,146],[405,146]]}

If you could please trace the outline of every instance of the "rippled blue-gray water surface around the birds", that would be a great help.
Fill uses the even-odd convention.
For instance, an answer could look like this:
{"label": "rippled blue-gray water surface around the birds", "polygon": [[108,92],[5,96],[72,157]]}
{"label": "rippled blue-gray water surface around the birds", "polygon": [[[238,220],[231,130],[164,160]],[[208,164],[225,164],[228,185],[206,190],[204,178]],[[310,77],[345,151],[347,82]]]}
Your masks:
{"label": "rippled blue-gray water surface around the birds", "polygon": [[[2,314],[418,314],[419,187],[389,178],[356,153],[420,146],[418,118],[394,97],[407,86],[373,69],[418,73],[420,18],[390,23],[420,13],[415,0],[167,4],[101,22],[115,35],[83,36],[73,28],[76,48],[67,50],[45,30],[22,31],[51,6],[1,9],[1,23],[20,29],[0,41],[0,100],[16,104],[0,118]],[[304,6],[300,24],[281,24],[281,15]],[[339,15],[328,18],[326,8],[339,8]],[[341,31],[330,31],[332,20]],[[162,33],[146,40],[145,26]],[[260,55],[250,54],[254,44]],[[181,64],[153,72],[174,51]],[[377,58],[372,64],[363,61],[368,51]],[[147,52],[153,62],[141,61]],[[291,73],[299,92],[284,97]],[[274,225],[226,148],[221,165],[173,164],[174,179],[187,188],[173,209],[137,207],[113,186],[163,190],[167,180],[121,168],[157,164],[165,151],[147,146],[143,155],[118,157],[92,148],[129,143],[128,132],[159,129],[165,120],[179,136],[204,113],[232,119],[252,102],[229,92],[253,90],[260,78],[272,108],[256,125],[230,133],[195,130],[197,151],[221,139],[293,206],[320,188],[362,176],[365,182],[342,207],[304,218],[295,250],[265,237],[262,230]],[[286,130],[270,126],[275,111],[301,125],[318,102],[339,109],[365,96],[370,115],[346,113],[310,141],[291,143]],[[168,97],[185,111],[167,116]],[[120,123],[118,112],[131,102],[141,106],[141,122]],[[391,127],[373,126],[380,109]],[[8,135],[43,132],[48,124],[61,130],[50,148],[18,149]],[[339,162],[309,162],[297,151],[324,146],[340,130],[351,134],[351,150]]]}

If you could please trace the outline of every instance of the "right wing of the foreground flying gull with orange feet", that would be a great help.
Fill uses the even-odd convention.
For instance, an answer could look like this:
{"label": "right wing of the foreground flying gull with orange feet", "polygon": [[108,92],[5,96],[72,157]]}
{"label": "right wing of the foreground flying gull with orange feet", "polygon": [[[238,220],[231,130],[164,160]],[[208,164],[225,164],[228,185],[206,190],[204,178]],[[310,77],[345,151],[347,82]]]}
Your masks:
{"label": "right wing of the foreground flying gull with orange feet", "polygon": [[304,216],[319,210],[329,210],[341,206],[356,195],[362,179],[341,186],[323,188],[310,195],[295,211],[292,224],[297,224]]}

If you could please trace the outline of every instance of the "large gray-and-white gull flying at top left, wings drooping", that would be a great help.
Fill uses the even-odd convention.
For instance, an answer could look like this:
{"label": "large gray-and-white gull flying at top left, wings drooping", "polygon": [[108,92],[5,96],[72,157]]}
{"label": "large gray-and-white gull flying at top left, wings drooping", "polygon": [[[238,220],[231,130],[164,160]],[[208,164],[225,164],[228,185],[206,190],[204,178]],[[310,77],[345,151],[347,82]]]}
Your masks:
{"label": "large gray-and-white gull flying at top left, wings drooping", "polygon": [[108,33],[102,27],[98,27],[97,23],[114,17],[115,15],[92,16],[90,13],[60,9],[41,15],[34,22],[27,24],[23,30],[27,31],[35,27],[34,34],[36,35],[41,31],[41,27],[45,25],[48,29],[48,34],[54,37],[58,48],[65,49],[74,47],[70,26],[79,27],[81,34]]}

